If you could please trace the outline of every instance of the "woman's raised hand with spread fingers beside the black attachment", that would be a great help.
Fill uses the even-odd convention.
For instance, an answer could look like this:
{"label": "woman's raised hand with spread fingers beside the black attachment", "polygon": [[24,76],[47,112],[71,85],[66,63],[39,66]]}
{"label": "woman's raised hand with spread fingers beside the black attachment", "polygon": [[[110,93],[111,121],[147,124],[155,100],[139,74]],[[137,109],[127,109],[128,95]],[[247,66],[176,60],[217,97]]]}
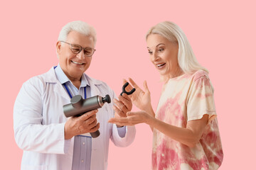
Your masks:
{"label": "woman's raised hand with spread fingers beside the black attachment", "polygon": [[[139,108],[142,111],[149,111],[151,109],[151,98],[150,98],[150,91],[148,86],[146,85],[146,81],[144,81],[144,91],[131,79],[129,78],[129,83],[134,86],[136,91],[134,91],[133,94],[129,95],[129,98],[131,98],[132,103]],[[127,81],[124,80],[124,83]],[[126,87],[127,91],[131,91],[133,87],[131,85],[128,85]]]}

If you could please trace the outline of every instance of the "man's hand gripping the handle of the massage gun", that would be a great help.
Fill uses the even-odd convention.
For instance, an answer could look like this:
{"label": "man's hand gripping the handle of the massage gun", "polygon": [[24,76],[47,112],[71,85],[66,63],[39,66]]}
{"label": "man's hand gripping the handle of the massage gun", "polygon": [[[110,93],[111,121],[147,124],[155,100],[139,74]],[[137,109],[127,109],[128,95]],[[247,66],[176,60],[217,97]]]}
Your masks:
{"label": "man's hand gripping the handle of the massage gun", "polygon": [[89,111],[80,117],[71,117],[65,123],[65,140],[69,140],[75,135],[87,132],[95,132],[100,128],[100,123],[96,119],[97,110]]}

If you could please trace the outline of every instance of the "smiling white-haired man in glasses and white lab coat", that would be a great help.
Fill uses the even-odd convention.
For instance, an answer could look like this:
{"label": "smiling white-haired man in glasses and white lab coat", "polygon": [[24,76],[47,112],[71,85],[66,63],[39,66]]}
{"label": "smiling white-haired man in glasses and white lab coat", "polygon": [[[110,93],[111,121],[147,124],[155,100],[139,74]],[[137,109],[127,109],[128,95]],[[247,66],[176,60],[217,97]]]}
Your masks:
{"label": "smiling white-haired man in glasses and white lab coat", "polygon": [[[110,139],[119,147],[133,142],[134,126],[107,123],[131,111],[129,97],[124,94],[114,100],[107,84],[84,73],[90,67],[95,42],[95,30],[87,23],[68,23],[56,45],[58,66],[21,87],[14,104],[14,135],[23,149],[21,169],[107,169]],[[83,98],[109,94],[116,105],[105,103],[98,110],[67,119],[63,105],[78,94]],[[100,136],[92,138],[90,132],[96,130]]]}

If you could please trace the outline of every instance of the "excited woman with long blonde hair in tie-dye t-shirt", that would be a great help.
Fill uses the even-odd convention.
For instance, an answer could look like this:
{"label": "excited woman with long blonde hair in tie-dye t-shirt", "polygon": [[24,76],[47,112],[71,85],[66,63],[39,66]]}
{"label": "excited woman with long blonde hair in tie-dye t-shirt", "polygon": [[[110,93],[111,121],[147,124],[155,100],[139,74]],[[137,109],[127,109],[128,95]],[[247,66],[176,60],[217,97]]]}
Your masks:
{"label": "excited woman with long blonde hair in tie-dye t-shirt", "polygon": [[152,27],[146,44],[164,81],[156,114],[146,81],[143,91],[129,79],[136,89],[130,96],[132,102],[142,111],[109,122],[150,125],[154,132],[152,169],[218,169],[223,149],[207,69],[198,64],[186,35],[175,23],[166,21]]}

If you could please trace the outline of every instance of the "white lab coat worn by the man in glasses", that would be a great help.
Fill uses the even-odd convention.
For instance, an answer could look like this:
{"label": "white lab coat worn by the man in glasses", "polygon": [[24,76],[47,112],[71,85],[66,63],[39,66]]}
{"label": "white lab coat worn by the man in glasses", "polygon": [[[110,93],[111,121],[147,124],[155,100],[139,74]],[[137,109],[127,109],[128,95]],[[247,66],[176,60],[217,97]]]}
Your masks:
{"label": "white lab coat worn by the man in glasses", "polygon": [[[114,91],[102,81],[87,77],[91,96],[110,95]],[[64,125],[67,120],[63,105],[70,103],[70,97],[55,77],[54,69],[33,77],[21,87],[14,104],[14,135],[23,157],[21,169],[70,170],[73,162],[74,138],[64,139]],[[117,126],[107,123],[114,116],[113,102],[98,109],[100,136],[92,138],[92,170],[107,169],[110,139],[118,147],[127,147],[135,137],[134,126],[127,126],[125,137],[119,137]]]}

